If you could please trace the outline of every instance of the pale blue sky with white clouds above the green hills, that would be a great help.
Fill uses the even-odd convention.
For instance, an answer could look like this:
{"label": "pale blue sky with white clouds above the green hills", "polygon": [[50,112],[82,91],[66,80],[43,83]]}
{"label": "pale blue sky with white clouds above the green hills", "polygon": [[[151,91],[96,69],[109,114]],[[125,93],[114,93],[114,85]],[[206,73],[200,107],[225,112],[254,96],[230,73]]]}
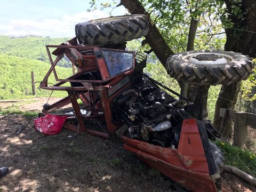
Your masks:
{"label": "pale blue sky with white clouds above the green hills", "polygon": [[[75,37],[77,23],[109,17],[112,10],[97,9],[87,12],[90,9],[89,2],[90,0],[0,0],[0,35]],[[125,8],[119,6],[111,15],[125,13]]]}

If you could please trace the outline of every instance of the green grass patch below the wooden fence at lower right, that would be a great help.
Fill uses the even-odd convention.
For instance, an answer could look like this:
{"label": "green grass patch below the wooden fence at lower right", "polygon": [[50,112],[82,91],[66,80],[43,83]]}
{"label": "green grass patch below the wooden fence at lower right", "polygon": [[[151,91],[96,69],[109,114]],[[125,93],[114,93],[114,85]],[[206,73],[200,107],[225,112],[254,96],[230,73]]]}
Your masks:
{"label": "green grass patch below the wooden fence at lower right", "polygon": [[225,164],[237,167],[253,177],[256,177],[256,156],[249,150],[239,149],[229,143],[216,141],[225,156]]}

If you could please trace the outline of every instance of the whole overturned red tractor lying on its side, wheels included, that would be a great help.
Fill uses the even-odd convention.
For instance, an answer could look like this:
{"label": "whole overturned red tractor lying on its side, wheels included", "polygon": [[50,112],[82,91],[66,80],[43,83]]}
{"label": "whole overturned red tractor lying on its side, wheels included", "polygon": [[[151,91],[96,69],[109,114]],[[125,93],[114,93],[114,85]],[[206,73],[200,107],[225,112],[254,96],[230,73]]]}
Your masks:
{"label": "whole overturned red tractor lying on its side, wheels included", "polygon": [[[182,186],[193,191],[217,191],[221,189],[220,173],[224,158],[220,149],[209,141],[220,137],[220,134],[202,115],[201,109],[206,103],[200,104],[200,110],[196,110],[196,106],[187,98],[143,73],[147,60],[145,54],[125,50],[125,41],[147,35],[148,27],[145,15],[93,20],[79,23],[76,38],[65,44],[46,45],[51,68],[40,86],[46,90],[66,91],[68,97],[52,105],[44,105],[43,114],[53,113],[71,103],[74,113],[65,114],[68,119],[63,127],[77,133],[121,138],[125,149]],[[52,48],[55,50],[51,53]],[[206,54],[211,54],[211,57]],[[192,57],[192,60],[181,58],[183,61],[178,63],[179,66],[171,63],[172,56],[168,60],[169,73],[175,78],[190,79],[199,84],[207,79],[210,84],[209,75],[201,75],[198,78],[202,78],[198,80],[189,74],[193,71],[196,75],[207,73],[209,66],[195,59],[206,56],[204,61],[209,58],[218,60],[212,54],[215,52],[204,52],[201,57],[193,55],[195,58]],[[77,68],[76,73],[66,79],[58,78],[55,69],[63,57]],[[241,65],[251,69],[252,64],[247,57],[238,58],[244,62]],[[192,64],[186,66],[188,61]],[[221,65],[232,67],[232,61],[232,58],[222,60]],[[48,86],[47,79],[51,73],[57,83]],[[241,73],[241,78],[234,77],[237,81],[249,74],[243,70]],[[218,75],[214,76],[217,80]],[[215,82],[219,82],[217,80]],[[228,82],[226,79],[221,81]],[[77,99],[82,100],[82,107],[87,113],[81,113]],[[206,102],[205,99],[202,102]],[[198,103],[199,99],[196,105]],[[86,127],[87,121],[92,118],[99,119],[100,129]]]}

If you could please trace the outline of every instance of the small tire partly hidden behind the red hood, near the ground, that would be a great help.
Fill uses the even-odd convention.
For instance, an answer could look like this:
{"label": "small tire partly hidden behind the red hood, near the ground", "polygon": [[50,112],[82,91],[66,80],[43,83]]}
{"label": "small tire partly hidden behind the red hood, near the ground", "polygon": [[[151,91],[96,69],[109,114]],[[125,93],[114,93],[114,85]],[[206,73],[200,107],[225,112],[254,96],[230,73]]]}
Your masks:
{"label": "small tire partly hidden behind the red hood, near the ground", "polygon": [[215,145],[215,143],[213,143],[211,141],[209,141],[209,143],[210,143],[210,148],[212,151],[212,156],[213,156],[215,165],[217,167],[217,173],[220,175],[223,171],[225,158],[223,156],[222,151],[220,150],[219,147],[217,147],[217,145]]}

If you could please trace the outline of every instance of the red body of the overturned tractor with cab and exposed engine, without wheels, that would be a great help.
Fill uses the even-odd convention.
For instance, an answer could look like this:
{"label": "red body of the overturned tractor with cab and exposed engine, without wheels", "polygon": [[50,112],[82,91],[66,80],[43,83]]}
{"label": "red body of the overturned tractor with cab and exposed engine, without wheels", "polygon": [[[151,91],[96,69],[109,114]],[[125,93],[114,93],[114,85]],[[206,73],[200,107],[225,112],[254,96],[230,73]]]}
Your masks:
{"label": "red body of the overturned tractor with cab and exposed engine, without wheels", "polygon": [[[52,52],[55,60],[51,47],[56,48]],[[209,132],[186,113],[181,100],[170,99],[171,96],[143,74],[145,55],[78,46],[75,38],[62,45],[46,45],[46,50],[51,68],[40,86],[46,90],[67,91],[68,97],[44,106],[44,115],[71,102],[74,114],[66,114],[68,119],[63,127],[106,138],[116,135],[125,143],[125,149],[182,186],[193,191],[217,191],[220,178],[208,140]],[[77,73],[59,79],[55,66],[65,55],[76,66]],[[57,83],[47,86],[52,72]],[[70,85],[64,86],[65,83]],[[162,96],[158,97],[158,93]],[[165,98],[161,100],[161,97]],[[77,99],[82,100],[91,115],[81,113]],[[103,119],[107,131],[86,127],[86,119],[91,118]],[[172,126],[166,128],[169,122]],[[162,128],[156,131],[157,127]]]}

